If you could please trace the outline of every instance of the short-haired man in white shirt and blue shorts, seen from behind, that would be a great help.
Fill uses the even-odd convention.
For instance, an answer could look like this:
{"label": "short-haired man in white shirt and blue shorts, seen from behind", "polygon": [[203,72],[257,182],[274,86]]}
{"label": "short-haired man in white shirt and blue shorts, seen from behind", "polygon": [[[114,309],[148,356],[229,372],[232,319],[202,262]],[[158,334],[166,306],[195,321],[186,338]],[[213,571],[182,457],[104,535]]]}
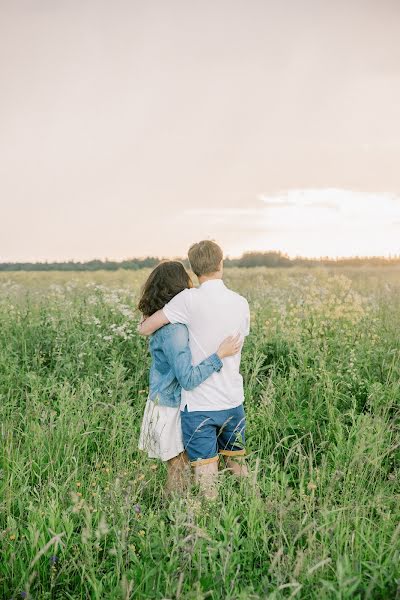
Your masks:
{"label": "short-haired man in white shirt and blue shorts, seen from behind", "polygon": [[[212,354],[221,339],[237,336],[240,347],[250,328],[249,305],[222,281],[223,254],[212,241],[189,249],[189,261],[200,287],[177,294],[164,308],[144,321],[139,331],[150,335],[167,323],[189,329],[193,364]],[[195,477],[203,491],[215,495],[219,455],[236,475],[247,476],[244,464],[245,415],[240,352],[223,359],[223,368],[193,390],[182,390],[183,442]]]}

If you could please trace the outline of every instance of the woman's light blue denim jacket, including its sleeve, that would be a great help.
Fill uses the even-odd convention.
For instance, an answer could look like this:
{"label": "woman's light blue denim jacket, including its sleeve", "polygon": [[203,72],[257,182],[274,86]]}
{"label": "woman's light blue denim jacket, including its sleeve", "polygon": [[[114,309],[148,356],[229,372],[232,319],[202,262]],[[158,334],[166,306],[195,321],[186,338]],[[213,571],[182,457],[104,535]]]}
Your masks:
{"label": "woman's light blue denim jacket, including its sleeve", "polygon": [[182,388],[192,390],[222,368],[217,354],[192,365],[189,332],[181,323],[165,325],[153,333],[150,353],[150,399],[161,406],[179,406]]}

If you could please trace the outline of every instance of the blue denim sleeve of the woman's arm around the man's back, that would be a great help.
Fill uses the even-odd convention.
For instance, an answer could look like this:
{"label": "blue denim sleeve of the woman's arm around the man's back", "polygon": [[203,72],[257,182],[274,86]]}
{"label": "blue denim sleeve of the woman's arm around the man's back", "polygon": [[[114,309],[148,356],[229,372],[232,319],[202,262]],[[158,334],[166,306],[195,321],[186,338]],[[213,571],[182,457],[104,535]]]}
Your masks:
{"label": "blue denim sleeve of the woman's arm around the man's back", "polygon": [[175,377],[184,390],[193,390],[210,375],[220,371],[223,366],[216,353],[211,354],[198,365],[192,365],[189,333],[183,325],[168,327],[165,332],[163,350]]}

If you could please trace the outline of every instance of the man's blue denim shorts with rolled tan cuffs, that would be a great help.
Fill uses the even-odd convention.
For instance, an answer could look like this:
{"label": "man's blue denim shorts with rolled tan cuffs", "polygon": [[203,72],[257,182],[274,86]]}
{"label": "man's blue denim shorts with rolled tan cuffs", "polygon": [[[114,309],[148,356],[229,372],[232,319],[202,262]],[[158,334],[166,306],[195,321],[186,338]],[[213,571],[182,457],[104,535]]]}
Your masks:
{"label": "man's blue denim shorts with rolled tan cuffs", "polygon": [[181,411],[183,445],[192,465],[243,456],[246,418],[243,404],[227,410]]}

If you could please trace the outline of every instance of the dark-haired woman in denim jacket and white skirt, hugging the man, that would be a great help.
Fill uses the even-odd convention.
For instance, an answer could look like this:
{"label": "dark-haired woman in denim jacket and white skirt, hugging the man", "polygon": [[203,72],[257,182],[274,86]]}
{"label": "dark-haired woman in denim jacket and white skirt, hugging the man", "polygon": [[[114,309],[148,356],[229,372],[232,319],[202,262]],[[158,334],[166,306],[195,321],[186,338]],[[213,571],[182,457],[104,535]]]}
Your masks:
{"label": "dark-haired woman in denim jacket and white skirt, hugging the man", "polygon": [[[176,294],[192,287],[192,281],[178,261],[160,263],[149,275],[138,308],[143,319],[162,308]],[[182,443],[181,389],[191,390],[219,371],[222,358],[239,351],[238,338],[226,338],[214,354],[192,365],[186,325],[168,324],[150,338],[150,391],[144,411],[139,448],[150,458],[166,462],[167,492],[182,490],[187,459]]]}

